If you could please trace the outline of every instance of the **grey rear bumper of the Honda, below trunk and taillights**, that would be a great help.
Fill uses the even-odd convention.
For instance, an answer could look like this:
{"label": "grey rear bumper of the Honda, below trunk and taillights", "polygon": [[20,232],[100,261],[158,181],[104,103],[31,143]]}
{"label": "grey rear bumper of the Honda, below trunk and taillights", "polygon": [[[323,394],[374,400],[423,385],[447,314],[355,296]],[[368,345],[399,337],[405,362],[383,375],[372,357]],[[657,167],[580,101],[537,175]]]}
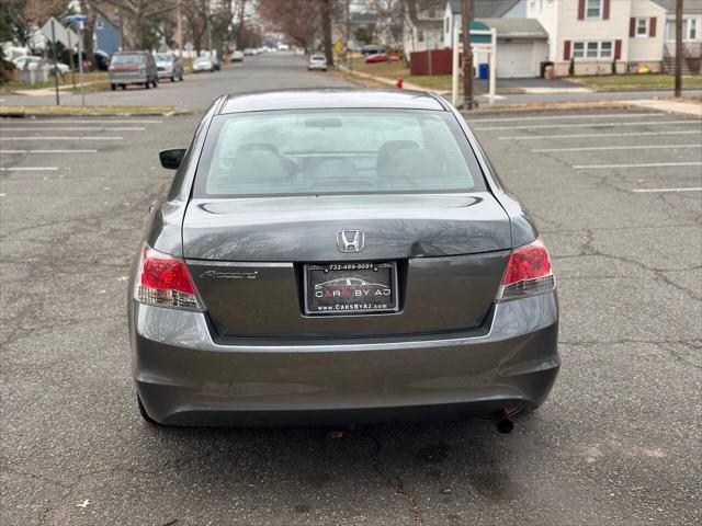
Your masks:
{"label": "grey rear bumper of the Honda, below trunk and taillights", "polygon": [[482,331],[301,342],[215,341],[205,315],[131,312],[133,375],[154,420],[360,423],[535,408],[556,378],[555,293],[495,306]]}

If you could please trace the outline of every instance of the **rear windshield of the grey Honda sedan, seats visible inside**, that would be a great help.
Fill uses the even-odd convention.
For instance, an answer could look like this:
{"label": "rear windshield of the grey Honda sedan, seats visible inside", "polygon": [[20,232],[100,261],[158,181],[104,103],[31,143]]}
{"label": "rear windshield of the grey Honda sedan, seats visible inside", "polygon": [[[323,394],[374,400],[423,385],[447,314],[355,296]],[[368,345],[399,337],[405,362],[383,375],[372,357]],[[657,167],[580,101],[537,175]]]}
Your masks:
{"label": "rear windshield of the grey Honda sedan, seats visible inside", "polygon": [[219,115],[195,179],[196,196],[483,190],[455,118],[432,111]]}

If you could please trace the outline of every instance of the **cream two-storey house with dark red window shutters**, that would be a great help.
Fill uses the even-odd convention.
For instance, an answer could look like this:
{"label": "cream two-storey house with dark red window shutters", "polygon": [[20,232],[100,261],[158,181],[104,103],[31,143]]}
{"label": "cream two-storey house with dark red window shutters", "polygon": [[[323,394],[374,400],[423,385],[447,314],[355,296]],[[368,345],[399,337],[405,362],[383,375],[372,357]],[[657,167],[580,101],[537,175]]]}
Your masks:
{"label": "cream two-storey house with dark red window shutters", "polygon": [[[528,0],[526,16],[548,33],[557,76],[661,71],[675,55],[675,0]],[[686,56],[699,69],[702,0],[686,0]],[[498,50],[499,54],[499,50]]]}

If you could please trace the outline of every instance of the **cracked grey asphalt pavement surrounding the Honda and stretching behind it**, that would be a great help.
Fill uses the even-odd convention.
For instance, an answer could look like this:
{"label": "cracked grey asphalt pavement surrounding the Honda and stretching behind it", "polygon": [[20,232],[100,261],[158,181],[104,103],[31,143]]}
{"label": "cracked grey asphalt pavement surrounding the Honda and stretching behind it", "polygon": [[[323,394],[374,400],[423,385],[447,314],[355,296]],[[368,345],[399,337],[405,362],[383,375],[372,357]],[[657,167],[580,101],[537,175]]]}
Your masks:
{"label": "cracked grey asphalt pavement surrounding the Honda and stretching behind it", "polygon": [[[105,93],[205,108],[340,85],[293,57]],[[115,102],[116,103],[116,102]],[[643,111],[472,125],[554,256],[563,368],[490,422],[173,428],[141,421],[126,276],[197,116],[0,126],[3,525],[694,525],[702,522],[702,126]]]}

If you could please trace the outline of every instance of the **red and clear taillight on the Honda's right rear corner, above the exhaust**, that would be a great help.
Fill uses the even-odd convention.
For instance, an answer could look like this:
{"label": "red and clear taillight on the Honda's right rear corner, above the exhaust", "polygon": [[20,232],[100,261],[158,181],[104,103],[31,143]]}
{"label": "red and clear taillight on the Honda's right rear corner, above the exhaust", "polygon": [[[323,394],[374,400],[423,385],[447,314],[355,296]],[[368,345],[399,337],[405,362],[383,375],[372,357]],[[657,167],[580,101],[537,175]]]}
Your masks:
{"label": "red and clear taillight on the Honda's right rear corner, above the exhaust", "polygon": [[533,296],[553,290],[555,287],[556,279],[551,268],[548,251],[540,240],[536,240],[514,249],[509,255],[497,300]]}

